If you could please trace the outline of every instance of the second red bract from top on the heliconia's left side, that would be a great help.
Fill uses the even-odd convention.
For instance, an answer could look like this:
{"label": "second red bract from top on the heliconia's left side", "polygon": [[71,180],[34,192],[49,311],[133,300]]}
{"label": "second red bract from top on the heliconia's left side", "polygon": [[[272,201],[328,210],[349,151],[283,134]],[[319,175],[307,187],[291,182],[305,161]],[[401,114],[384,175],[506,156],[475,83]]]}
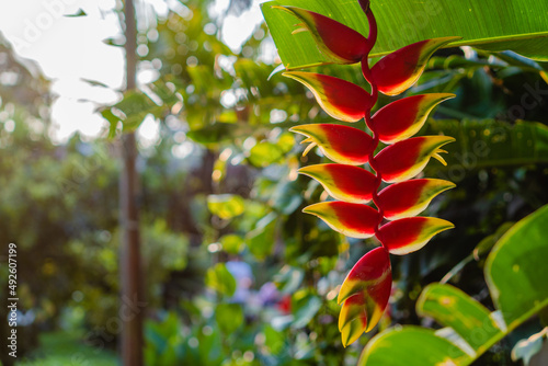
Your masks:
{"label": "second red bract from top on the heliconia's left side", "polygon": [[323,111],[335,119],[356,122],[367,113],[370,95],[352,82],[313,72],[289,71],[282,75],[310,89]]}

